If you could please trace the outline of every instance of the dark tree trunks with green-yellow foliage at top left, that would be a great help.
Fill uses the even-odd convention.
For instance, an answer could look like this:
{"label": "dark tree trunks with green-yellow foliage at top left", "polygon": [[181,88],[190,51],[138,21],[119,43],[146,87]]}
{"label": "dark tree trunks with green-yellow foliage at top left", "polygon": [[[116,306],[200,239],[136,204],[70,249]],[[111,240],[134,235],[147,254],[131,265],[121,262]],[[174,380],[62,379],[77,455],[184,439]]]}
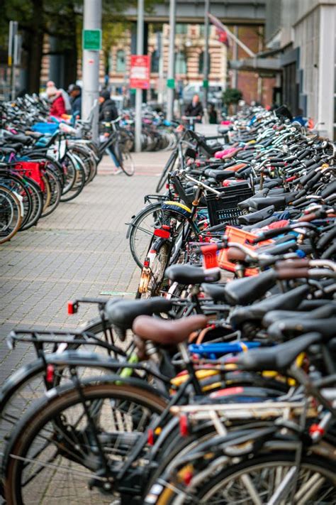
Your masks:
{"label": "dark tree trunks with green-yellow foliage at top left", "polygon": [[[159,0],[162,1],[162,0]],[[146,0],[146,10],[157,1]],[[103,49],[105,55],[121,31],[125,31],[121,14],[136,0],[103,0]],[[76,80],[77,56],[82,50],[83,0],[1,0],[0,44],[6,45],[9,21],[18,21],[23,33],[23,53],[27,62],[27,91],[39,92],[45,36],[54,38],[49,53],[65,56],[65,85]],[[113,28],[114,24],[118,24]],[[107,47],[108,46],[108,47]]]}

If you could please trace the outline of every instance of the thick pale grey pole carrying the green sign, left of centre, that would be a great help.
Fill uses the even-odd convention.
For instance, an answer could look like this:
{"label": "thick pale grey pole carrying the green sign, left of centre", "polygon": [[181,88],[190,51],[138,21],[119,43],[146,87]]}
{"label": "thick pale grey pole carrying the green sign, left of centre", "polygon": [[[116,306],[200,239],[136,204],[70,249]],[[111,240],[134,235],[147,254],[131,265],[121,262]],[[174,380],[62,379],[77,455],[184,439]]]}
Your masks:
{"label": "thick pale grey pole carrying the green sign, left of centre", "polygon": [[[101,0],[84,0],[84,30],[101,29]],[[83,50],[82,118],[88,119],[99,97],[99,50]],[[98,104],[93,111],[92,139],[98,141]]]}

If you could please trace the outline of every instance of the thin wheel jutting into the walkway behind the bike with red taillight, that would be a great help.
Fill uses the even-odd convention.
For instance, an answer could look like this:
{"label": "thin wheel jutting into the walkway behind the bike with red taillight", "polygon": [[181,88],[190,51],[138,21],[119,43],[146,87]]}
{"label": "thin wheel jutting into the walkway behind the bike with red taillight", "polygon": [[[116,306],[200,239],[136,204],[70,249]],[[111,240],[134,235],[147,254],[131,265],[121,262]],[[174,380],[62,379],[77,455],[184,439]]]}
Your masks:
{"label": "thin wheel jutting into the walkway behind the bike with red taillight", "polygon": [[130,252],[135,263],[142,268],[155,228],[164,224],[164,212],[160,203],[153,203],[142,209],[130,224],[128,238]]}

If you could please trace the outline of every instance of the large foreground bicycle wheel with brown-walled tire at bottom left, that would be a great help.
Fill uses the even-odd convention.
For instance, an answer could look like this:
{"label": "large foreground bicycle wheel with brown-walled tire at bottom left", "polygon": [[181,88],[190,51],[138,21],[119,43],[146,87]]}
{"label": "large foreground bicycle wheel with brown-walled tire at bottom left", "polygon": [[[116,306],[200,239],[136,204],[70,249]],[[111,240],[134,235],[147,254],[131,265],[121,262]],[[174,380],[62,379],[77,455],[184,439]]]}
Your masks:
{"label": "large foreground bicycle wheel with brown-walled tire at bottom left", "polygon": [[107,382],[53,391],[21,420],[6,451],[7,504],[111,504],[113,481],[102,474],[101,456],[106,474],[116,475],[166,403]]}

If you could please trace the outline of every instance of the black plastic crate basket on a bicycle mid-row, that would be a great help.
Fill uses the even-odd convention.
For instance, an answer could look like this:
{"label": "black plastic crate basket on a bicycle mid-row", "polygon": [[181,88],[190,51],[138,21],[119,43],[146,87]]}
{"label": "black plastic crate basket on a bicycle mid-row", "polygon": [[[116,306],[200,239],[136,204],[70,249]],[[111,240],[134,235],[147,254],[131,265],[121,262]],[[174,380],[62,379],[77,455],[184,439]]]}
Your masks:
{"label": "black plastic crate basket on a bicycle mid-row", "polygon": [[228,188],[218,188],[218,191],[223,192],[225,196],[218,198],[214,193],[206,192],[206,206],[211,226],[223,222],[239,224],[238,217],[243,212],[238,209],[238,203],[250,198],[253,195],[252,189],[247,183],[242,183]]}

